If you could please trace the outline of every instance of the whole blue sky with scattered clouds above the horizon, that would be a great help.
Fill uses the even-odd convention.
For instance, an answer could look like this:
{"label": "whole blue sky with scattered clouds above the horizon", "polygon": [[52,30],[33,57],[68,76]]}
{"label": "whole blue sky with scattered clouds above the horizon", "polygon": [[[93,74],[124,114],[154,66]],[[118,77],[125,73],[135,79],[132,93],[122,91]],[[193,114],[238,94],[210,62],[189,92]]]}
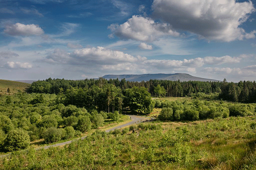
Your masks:
{"label": "whole blue sky with scattered clouds above the horizon", "polygon": [[256,80],[256,0],[0,0],[0,79]]}

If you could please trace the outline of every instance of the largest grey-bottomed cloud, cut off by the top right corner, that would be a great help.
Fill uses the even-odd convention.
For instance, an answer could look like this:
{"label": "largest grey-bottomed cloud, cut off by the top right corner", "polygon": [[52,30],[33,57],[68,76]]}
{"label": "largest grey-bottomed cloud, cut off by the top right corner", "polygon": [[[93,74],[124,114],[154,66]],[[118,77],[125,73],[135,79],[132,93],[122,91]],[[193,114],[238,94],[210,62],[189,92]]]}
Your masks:
{"label": "largest grey-bottomed cloud, cut off by the top right corner", "polygon": [[253,3],[236,0],[154,0],[154,15],[172,25],[201,35],[208,40],[230,42],[255,38],[241,24],[255,11]]}

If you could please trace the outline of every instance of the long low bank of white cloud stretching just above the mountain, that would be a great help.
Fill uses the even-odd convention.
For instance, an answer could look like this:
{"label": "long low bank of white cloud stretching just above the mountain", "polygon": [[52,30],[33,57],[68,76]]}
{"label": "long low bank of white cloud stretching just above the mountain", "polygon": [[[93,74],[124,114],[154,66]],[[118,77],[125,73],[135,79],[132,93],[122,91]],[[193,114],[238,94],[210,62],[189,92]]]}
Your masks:
{"label": "long low bank of white cloud stretching just above the mountain", "polygon": [[[198,68],[204,65],[221,65],[224,63],[240,62],[241,57],[197,57],[194,59],[147,59],[141,56],[132,56],[122,51],[115,51],[104,47],[92,47],[76,49],[72,53],[56,48],[50,52],[44,62],[52,64],[67,64],[75,65],[80,68],[90,68],[95,70],[106,71],[185,71],[188,73],[195,73]],[[244,68],[249,70],[253,68]],[[231,73],[234,70],[231,68],[205,68],[207,72],[215,73]],[[143,71],[144,70],[144,71]],[[238,70],[237,70],[238,71]]]}

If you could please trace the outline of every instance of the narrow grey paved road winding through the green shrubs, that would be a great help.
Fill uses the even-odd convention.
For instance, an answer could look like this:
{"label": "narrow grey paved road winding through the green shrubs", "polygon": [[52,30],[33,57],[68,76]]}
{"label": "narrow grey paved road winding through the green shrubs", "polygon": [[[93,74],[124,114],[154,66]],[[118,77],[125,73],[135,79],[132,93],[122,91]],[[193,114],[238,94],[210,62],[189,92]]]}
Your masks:
{"label": "narrow grey paved road winding through the green shrubs", "polygon": [[[150,118],[150,117],[144,117],[144,116],[136,116],[136,115],[127,115],[130,117],[130,119],[132,120],[131,122],[128,122],[124,125],[119,125],[119,126],[116,126],[116,127],[112,127],[111,129],[108,129],[108,130],[105,130],[105,132],[110,132],[111,130],[115,130],[115,129],[120,129],[122,127],[126,127],[126,126],[129,126],[129,125],[132,125],[132,124],[137,124],[137,123],[140,123],[140,122],[143,122],[145,120],[149,120],[149,119],[154,119],[154,118]],[[83,136],[79,139],[84,139],[86,138],[87,136]],[[57,147],[57,146],[62,146],[62,145],[65,145],[65,144],[70,144],[71,142],[75,141],[77,139],[73,139],[73,140],[70,140],[70,141],[67,141],[67,142],[62,142],[62,143],[58,143],[58,144],[52,144],[52,145],[48,145],[48,146],[44,146],[44,147],[38,147],[36,148],[36,150],[39,150],[39,149],[47,149],[49,147]],[[4,157],[4,156],[8,156],[10,155],[9,154],[6,154],[6,155],[1,155],[0,158]]]}

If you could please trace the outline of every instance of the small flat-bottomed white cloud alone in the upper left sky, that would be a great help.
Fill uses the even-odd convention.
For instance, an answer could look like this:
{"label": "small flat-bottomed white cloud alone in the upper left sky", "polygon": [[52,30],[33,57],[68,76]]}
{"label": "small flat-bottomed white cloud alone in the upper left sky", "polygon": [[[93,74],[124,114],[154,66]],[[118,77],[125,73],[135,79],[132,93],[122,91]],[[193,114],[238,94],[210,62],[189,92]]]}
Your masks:
{"label": "small flat-bottomed white cloud alone in the upper left sky", "polygon": [[12,26],[6,26],[4,32],[13,36],[30,36],[30,35],[41,35],[44,34],[44,30],[35,24],[24,25],[16,23]]}

